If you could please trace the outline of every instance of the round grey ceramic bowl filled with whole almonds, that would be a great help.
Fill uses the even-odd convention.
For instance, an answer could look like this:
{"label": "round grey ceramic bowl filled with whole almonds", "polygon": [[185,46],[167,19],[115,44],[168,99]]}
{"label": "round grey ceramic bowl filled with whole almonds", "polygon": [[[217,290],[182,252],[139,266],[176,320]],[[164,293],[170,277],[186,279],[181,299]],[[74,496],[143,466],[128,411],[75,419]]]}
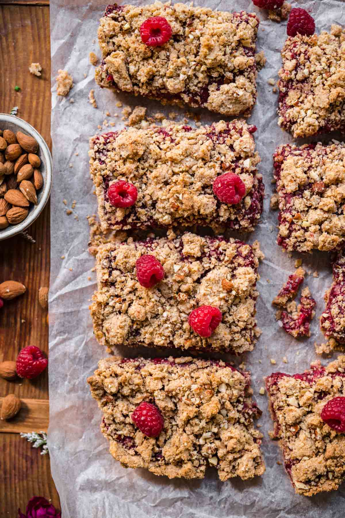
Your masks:
{"label": "round grey ceramic bowl filled with whole almonds", "polygon": [[31,225],[48,202],[52,157],[27,122],[0,113],[0,241]]}

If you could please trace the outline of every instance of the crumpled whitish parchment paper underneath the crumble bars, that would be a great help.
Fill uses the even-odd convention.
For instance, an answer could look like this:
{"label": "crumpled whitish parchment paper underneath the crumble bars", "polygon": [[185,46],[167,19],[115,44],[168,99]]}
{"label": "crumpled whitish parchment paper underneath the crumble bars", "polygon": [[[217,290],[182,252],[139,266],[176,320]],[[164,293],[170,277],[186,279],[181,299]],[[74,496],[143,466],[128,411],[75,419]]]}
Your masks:
{"label": "crumpled whitish parchment paper underneath the crumble bars", "polygon": [[[138,2],[134,0],[133,3]],[[310,287],[317,300],[317,317],[312,321],[309,339],[297,341],[285,334],[275,320],[271,302],[283,281],[294,271],[295,258],[300,255],[289,257],[275,242],[277,212],[269,210],[269,198],[274,189],[271,185],[272,153],[277,145],[291,138],[277,125],[277,94],[272,92],[267,79],[277,79],[281,66],[280,49],[286,39],[286,22],[277,24],[268,20],[265,12],[254,7],[250,0],[229,0],[226,3],[198,0],[196,4],[229,11],[255,10],[261,20],[257,51],[264,50],[267,58],[266,66],[259,72],[258,101],[249,119],[250,123],[258,126],[254,136],[262,159],[260,171],[265,182],[265,206],[262,223],[246,238],[248,242],[259,239],[265,253],[259,270],[260,297],[257,303],[258,324],[263,334],[254,352],[244,357],[252,373],[254,397],[263,410],[259,423],[264,433],[262,451],[266,472],[263,477],[252,481],[220,482],[216,470],[210,468],[202,481],[169,481],[143,469],[126,470],[108,452],[108,442],[99,431],[101,412],[86,386],[86,378],[95,370],[97,361],[107,356],[93,336],[88,312],[89,301],[96,288],[96,277],[91,272],[94,258],[87,252],[89,228],[86,215],[96,212],[96,198],[92,194],[93,185],[88,173],[88,137],[96,133],[97,125],[101,125],[104,119],[116,122],[115,129],[123,126],[122,108],[115,106],[118,100],[132,108],[147,106],[149,115],[173,110],[181,119],[184,110],[175,107],[164,109],[159,103],[145,102],[141,97],[115,96],[105,89],[100,90],[94,81],[95,68],[89,64],[88,53],[94,51],[100,56],[97,27],[106,0],[87,4],[81,0],[51,0],[55,181],[51,194],[49,450],[62,514],[64,518],[342,516],[344,486],[338,492],[313,498],[294,494],[283,466],[277,465],[282,458],[277,442],[267,435],[267,431],[272,429],[267,398],[259,394],[263,376],[278,370],[303,372],[317,358],[313,344],[323,339],[318,316],[324,308],[323,294],[332,282],[326,254],[314,252],[312,256],[303,257],[303,265],[311,274],[315,270],[319,272],[319,278],[310,275],[304,284]],[[310,9],[316,20],[317,32],[329,30],[334,22],[345,25],[345,4],[339,0],[302,0],[295,2],[294,6]],[[74,87],[66,98],[56,95],[55,77],[59,68],[67,69],[74,80]],[[91,88],[95,89],[97,109],[88,103],[87,95]],[[71,98],[74,103],[69,102]],[[112,116],[118,113],[119,117],[107,117],[108,110]],[[202,123],[219,119],[207,110],[199,111]],[[103,132],[111,129],[103,128]],[[327,138],[322,140],[326,142]],[[63,199],[67,200],[67,207]],[[77,205],[73,214],[67,215],[66,209],[71,208],[72,200],[76,200]],[[267,279],[271,282],[268,283]],[[123,347],[119,352],[133,355],[134,351]],[[140,352],[157,356],[154,349]],[[288,364],[282,362],[283,356],[288,358]],[[271,364],[271,358],[276,360],[276,365]],[[236,361],[239,363],[241,360]]]}

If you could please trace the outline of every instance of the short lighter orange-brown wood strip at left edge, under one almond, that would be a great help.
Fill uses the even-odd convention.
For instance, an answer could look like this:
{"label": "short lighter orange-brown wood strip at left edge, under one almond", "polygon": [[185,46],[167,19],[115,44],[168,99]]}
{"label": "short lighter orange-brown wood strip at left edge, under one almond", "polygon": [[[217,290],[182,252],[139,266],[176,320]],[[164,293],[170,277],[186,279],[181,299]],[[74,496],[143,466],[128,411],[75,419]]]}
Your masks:
{"label": "short lighter orange-brown wood strip at left edge, under one almond", "polygon": [[[0,432],[28,433],[30,431],[45,431],[49,425],[48,399],[22,399],[22,408],[14,418],[0,420]],[[0,408],[3,398],[0,397]]]}

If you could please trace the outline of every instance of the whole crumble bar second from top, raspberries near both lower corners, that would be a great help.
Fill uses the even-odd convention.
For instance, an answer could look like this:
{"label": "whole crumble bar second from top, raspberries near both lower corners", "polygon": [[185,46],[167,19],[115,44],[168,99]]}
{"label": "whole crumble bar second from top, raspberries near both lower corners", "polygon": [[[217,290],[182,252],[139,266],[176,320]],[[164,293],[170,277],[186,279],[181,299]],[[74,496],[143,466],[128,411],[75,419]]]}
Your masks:
{"label": "whole crumble bar second from top, raspberries near both lower corners", "polygon": [[[200,224],[252,231],[264,194],[256,129],[243,120],[194,130],[170,123],[92,137],[90,170],[102,230]],[[241,184],[240,196],[218,193],[215,182],[229,176]],[[133,190],[128,203],[109,196],[119,182]]]}

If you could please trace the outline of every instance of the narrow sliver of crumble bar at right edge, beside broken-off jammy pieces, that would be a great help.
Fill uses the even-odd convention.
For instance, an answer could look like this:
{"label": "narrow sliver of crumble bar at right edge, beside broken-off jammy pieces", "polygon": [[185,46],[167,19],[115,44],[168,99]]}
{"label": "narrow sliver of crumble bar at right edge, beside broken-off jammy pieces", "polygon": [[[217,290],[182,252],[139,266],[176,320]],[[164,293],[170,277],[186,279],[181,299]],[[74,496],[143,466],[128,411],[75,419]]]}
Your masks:
{"label": "narrow sliver of crumble bar at right edge, beside broken-off jammy pieces", "polygon": [[325,294],[326,308],[320,317],[320,327],[327,339],[345,347],[345,256],[341,252],[333,262],[333,284]]}

